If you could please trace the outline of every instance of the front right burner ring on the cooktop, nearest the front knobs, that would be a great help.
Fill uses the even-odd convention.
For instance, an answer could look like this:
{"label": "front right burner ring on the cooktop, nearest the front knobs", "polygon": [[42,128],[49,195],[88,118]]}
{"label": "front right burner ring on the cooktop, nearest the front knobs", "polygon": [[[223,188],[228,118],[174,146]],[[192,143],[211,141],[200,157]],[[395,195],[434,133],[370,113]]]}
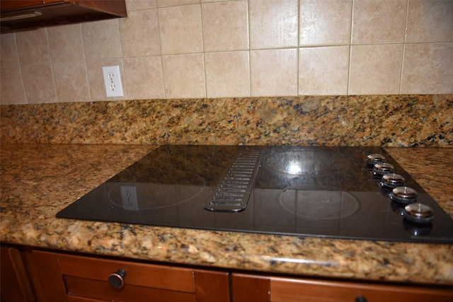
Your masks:
{"label": "front right burner ring on the cooktop, nearest the front knobs", "polygon": [[343,219],[360,210],[354,194],[326,185],[298,185],[282,190],[278,202],[287,211],[307,219]]}

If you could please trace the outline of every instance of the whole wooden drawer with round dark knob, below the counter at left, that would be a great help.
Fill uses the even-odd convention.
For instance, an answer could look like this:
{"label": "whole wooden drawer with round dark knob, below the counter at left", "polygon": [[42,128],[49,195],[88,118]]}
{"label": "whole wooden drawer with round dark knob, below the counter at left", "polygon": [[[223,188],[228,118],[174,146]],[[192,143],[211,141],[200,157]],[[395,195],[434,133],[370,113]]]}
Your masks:
{"label": "whole wooden drawer with round dark knob, below the counter at left", "polygon": [[[68,294],[120,301],[195,301],[192,269],[137,262],[58,255]],[[124,270],[124,286],[115,289],[109,275]],[[154,300],[153,300],[154,299]]]}

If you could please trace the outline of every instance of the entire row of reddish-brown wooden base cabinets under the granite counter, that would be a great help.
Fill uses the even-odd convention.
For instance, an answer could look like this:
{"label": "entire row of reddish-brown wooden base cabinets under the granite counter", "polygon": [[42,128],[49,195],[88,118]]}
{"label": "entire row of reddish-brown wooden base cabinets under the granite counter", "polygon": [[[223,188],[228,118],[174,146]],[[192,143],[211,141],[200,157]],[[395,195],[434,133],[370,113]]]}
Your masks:
{"label": "entire row of reddish-brown wooden base cabinets under the granite counter", "polygon": [[[1,289],[1,301],[8,302],[453,301],[453,289],[444,287],[220,272],[5,247],[1,248]],[[11,292],[18,297],[11,298]]]}

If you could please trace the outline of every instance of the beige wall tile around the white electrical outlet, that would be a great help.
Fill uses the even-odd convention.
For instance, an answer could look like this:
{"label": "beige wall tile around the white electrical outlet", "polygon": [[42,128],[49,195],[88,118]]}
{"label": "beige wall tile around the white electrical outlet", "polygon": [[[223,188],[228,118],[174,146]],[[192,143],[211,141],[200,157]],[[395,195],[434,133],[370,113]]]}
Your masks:
{"label": "beige wall tile around the white electrical outlet", "polygon": [[[105,94],[103,79],[103,66],[120,66],[121,83],[123,84],[124,96],[109,97]],[[124,86],[125,78],[122,69],[122,59],[107,59],[86,62],[86,71],[88,72],[88,83],[91,100],[127,100],[127,87]]]}

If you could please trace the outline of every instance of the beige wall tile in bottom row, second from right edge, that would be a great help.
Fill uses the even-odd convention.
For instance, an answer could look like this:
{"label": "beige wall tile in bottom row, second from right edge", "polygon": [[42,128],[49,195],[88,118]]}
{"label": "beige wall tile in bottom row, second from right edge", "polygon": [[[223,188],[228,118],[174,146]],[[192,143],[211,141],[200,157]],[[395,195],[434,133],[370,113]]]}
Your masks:
{"label": "beige wall tile in bottom row, second from right edge", "polygon": [[352,45],[350,95],[396,94],[403,45]]}

